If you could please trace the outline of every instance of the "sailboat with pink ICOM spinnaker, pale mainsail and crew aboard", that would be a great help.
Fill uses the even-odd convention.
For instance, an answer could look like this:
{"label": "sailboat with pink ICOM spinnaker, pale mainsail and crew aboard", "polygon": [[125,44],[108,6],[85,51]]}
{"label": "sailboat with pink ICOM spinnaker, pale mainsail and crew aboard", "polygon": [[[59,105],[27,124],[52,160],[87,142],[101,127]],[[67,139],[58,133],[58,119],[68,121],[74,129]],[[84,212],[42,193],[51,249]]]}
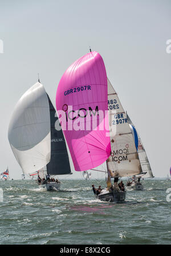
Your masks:
{"label": "sailboat with pink ICOM spinnaker, pale mainsail and crew aboard", "polygon": [[56,91],[56,109],[75,170],[93,170],[106,161],[107,189],[97,198],[123,202],[126,192],[115,191],[111,178],[116,186],[119,177],[140,174],[142,169],[126,114],[99,53],[90,52],[68,67]]}

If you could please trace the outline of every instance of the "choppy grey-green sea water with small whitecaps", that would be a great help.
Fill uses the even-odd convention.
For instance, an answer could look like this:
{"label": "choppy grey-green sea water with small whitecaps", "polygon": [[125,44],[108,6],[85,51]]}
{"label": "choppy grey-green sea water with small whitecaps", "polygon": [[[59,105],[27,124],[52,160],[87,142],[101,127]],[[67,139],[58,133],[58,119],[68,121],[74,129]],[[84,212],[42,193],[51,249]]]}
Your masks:
{"label": "choppy grey-green sea water with small whitecaps", "polygon": [[0,181],[1,245],[171,243],[171,181],[145,179],[124,203],[95,199],[91,185],[104,180],[61,182],[60,191],[46,191],[31,180]]}

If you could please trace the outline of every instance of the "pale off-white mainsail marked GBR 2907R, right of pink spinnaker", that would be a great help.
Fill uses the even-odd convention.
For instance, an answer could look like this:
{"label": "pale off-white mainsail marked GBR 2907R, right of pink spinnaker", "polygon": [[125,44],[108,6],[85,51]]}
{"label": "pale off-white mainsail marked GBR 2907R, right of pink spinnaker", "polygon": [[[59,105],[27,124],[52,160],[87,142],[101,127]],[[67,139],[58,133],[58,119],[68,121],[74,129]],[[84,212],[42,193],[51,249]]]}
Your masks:
{"label": "pale off-white mainsail marked GBR 2907R, right of pink spinnaker", "polygon": [[127,116],[109,80],[108,110],[111,137],[111,156],[107,159],[109,173],[112,177],[142,173]]}

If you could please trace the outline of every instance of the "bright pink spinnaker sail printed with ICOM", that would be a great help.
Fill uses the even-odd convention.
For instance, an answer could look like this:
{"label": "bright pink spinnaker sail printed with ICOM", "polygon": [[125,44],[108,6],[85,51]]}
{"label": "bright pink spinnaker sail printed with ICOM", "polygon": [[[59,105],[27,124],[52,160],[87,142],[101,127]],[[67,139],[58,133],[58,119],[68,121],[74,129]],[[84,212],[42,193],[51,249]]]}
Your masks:
{"label": "bright pink spinnaker sail printed with ICOM", "polygon": [[106,137],[107,75],[99,53],[84,55],[66,70],[56,91],[56,109],[75,170],[104,163],[111,145]]}

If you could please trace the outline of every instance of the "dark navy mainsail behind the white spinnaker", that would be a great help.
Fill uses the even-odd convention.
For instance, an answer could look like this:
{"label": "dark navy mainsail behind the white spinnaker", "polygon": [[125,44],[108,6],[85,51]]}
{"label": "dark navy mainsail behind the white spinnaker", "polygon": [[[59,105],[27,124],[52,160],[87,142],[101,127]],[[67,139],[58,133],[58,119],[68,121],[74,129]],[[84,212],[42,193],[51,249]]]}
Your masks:
{"label": "dark navy mainsail behind the white spinnaker", "polygon": [[51,122],[51,160],[47,164],[46,170],[48,174],[54,175],[71,174],[70,161],[63,132],[62,130],[55,129],[55,126],[58,126],[59,119],[49,97],[48,102]]}

